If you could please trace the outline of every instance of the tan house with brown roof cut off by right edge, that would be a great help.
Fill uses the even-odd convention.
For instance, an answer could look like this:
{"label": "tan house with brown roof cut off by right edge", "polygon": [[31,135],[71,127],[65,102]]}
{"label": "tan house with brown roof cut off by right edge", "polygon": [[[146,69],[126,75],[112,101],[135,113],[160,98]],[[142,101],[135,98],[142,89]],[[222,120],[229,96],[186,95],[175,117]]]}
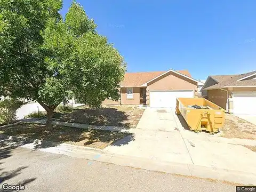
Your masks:
{"label": "tan house with brown roof cut off by right edge", "polygon": [[256,71],[209,76],[201,92],[229,113],[256,114]]}

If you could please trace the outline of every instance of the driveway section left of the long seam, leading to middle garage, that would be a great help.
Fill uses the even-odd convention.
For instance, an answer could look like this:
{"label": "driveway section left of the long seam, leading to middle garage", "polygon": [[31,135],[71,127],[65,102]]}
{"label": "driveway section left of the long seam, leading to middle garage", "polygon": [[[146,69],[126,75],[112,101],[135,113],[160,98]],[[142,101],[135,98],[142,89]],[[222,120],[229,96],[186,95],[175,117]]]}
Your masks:
{"label": "driveway section left of the long seam, leading to middle garage", "polygon": [[185,142],[178,130],[172,109],[147,108],[136,129],[129,130],[134,140],[124,138],[105,150],[121,155],[192,164]]}

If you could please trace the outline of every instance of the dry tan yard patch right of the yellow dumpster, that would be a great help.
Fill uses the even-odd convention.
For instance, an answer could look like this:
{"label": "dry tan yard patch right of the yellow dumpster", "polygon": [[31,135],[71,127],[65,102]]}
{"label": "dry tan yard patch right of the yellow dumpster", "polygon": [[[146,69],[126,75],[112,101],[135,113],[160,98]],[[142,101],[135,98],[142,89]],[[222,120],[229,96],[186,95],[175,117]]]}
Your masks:
{"label": "dry tan yard patch right of the yellow dumpster", "polygon": [[225,124],[220,130],[222,137],[256,139],[256,125],[234,115],[225,114]]}

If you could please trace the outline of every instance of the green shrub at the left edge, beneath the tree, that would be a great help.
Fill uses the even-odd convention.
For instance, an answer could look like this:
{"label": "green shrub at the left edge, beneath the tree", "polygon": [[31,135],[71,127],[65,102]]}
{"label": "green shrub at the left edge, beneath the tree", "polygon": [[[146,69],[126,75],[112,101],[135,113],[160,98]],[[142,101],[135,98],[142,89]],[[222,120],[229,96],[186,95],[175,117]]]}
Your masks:
{"label": "green shrub at the left edge, beneath the tree", "polygon": [[25,102],[13,98],[5,98],[0,101],[0,124],[14,122],[17,119],[17,110],[24,104]]}

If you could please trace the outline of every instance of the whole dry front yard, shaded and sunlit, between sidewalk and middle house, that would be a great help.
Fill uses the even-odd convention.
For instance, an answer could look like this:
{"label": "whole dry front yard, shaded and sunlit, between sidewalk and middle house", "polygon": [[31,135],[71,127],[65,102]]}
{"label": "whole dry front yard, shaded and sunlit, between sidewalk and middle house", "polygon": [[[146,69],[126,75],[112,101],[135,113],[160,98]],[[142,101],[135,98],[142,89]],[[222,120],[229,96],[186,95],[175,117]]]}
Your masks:
{"label": "whole dry front yard, shaded and sunlit, between sidewalk and middle house", "polygon": [[144,110],[133,106],[79,106],[65,113],[56,112],[53,118],[54,121],[132,128],[137,126]]}

